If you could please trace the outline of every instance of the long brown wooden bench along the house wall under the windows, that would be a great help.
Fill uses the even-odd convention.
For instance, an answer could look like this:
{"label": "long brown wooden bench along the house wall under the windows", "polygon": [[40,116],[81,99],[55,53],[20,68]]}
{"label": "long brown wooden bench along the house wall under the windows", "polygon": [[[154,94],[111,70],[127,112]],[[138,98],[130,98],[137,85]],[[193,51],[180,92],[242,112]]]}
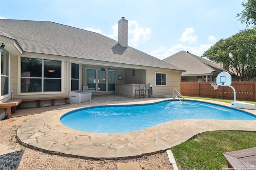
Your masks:
{"label": "long brown wooden bench along the house wall under the windows", "polygon": [[46,98],[13,98],[4,103],[1,103],[0,108],[7,109],[7,118],[9,118],[12,116],[12,113],[15,113],[15,110],[19,109],[19,104],[21,102],[36,101],[37,107],[40,107],[41,100],[51,100],[52,106],[54,106],[54,100],[56,99],[65,99],[65,104],[68,104],[68,96],[57,96],[57,97],[46,97]]}

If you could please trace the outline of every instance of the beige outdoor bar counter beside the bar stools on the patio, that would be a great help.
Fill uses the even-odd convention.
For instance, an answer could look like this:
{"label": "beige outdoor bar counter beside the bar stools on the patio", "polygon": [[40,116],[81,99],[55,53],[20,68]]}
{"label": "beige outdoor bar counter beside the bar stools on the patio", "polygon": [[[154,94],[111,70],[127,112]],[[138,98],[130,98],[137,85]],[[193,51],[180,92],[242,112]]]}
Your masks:
{"label": "beige outdoor bar counter beside the bar stools on the patio", "polygon": [[139,84],[116,84],[116,94],[134,98],[135,90],[139,89]]}

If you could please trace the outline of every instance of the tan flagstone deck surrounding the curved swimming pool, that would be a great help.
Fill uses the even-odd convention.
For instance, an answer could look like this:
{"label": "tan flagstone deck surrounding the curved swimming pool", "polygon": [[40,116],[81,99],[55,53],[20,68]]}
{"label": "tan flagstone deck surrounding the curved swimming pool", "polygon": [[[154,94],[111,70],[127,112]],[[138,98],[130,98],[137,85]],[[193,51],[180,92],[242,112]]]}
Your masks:
{"label": "tan flagstone deck surrounding the curved swimming pool", "polygon": [[[65,113],[82,107],[112,104],[146,104],[172,98],[91,100],[46,111],[24,122],[17,130],[18,141],[32,149],[50,154],[95,159],[126,159],[154,154],[187,141],[198,133],[216,130],[256,131],[256,121],[184,119],[168,121],[148,129],[128,133],[90,133],[60,123]],[[113,98],[112,98],[113,100]],[[189,99],[194,100],[194,99]],[[197,100],[230,107],[230,104]],[[256,110],[241,109],[256,115]]]}

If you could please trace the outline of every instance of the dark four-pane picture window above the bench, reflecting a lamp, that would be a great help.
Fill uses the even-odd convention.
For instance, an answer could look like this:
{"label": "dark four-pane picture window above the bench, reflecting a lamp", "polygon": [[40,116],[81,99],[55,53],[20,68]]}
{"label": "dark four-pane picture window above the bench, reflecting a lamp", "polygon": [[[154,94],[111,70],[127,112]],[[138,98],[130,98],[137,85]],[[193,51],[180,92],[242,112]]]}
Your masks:
{"label": "dark four-pane picture window above the bench, reflecting a lamp", "polygon": [[60,92],[61,61],[21,57],[21,92]]}

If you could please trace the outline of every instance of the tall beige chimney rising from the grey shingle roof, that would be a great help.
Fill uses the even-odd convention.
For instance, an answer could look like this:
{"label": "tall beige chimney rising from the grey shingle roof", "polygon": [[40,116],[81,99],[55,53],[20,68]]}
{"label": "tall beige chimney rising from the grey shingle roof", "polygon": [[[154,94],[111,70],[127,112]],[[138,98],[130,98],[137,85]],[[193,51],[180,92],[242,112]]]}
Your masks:
{"label": "tall beige chimney rising from the grey shingle roof", "polygon": [[118,21],[118,43],[122,47],[128,46],[128,20],[124,17]]}

